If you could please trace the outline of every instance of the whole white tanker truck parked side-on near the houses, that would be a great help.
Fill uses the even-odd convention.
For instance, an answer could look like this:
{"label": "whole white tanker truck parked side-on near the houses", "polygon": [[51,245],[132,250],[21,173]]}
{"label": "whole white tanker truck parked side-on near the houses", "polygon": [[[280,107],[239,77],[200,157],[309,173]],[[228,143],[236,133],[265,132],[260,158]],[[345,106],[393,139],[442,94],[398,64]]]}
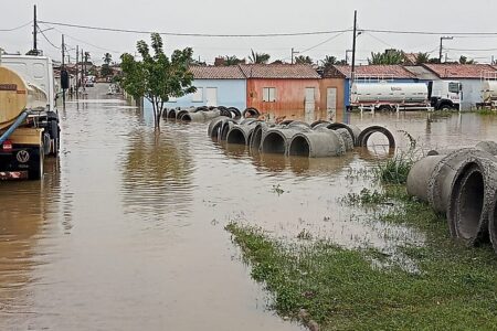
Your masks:
{"label": "whole white tanker truck parked side-on near the houses", "polygon": [[349,108],[371,111],[458,109],[459,90],[458,82],[437,81],[429,84],[358,82],[352,85]]}

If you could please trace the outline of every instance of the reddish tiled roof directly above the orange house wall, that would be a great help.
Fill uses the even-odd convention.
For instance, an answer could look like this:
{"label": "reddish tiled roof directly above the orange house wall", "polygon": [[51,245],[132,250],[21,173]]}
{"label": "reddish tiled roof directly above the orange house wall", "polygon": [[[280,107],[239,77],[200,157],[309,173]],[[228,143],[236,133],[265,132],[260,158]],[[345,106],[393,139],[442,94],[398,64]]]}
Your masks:
{"label": "reddish tiled roof directly above the orange house wall", "polygon": [[318,79],[309,64],[240,64],[247,78]]}

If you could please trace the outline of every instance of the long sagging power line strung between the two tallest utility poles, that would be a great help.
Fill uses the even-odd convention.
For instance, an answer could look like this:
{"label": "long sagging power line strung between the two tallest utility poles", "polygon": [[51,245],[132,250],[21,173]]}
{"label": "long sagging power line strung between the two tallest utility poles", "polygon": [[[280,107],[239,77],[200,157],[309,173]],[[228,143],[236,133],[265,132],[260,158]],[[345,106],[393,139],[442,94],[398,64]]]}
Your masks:
{"label": "long sagging power line strung between the two tallest utility poles", "polygon": [[61,22],[47,22],[39,21],[44,24],[86,29],[86,30],[97,30],[97,31],[109,31],[109,32],[123,32],[123,33],[138,33],[138,34],[151,34],[159,33],[163,35],[173,36],[202,36],[202,38],[268,38],[268,36],[297,36],[297,35],[318,35],[318,34],[334,34],[334,33],[345,33],[350,32],[347,30],[335,30],[335,31],[313,31],[313,32],[294,32],[294,33],[260,33],[260,34],[212,34],[212,33],[179,33],[179,32],[157,32],[157,31],[144,31],[144,30],[130,30],[130,29],[117,29],[117,28],[103,28],[103,26],[89,26],[82,24],[70,24]]}

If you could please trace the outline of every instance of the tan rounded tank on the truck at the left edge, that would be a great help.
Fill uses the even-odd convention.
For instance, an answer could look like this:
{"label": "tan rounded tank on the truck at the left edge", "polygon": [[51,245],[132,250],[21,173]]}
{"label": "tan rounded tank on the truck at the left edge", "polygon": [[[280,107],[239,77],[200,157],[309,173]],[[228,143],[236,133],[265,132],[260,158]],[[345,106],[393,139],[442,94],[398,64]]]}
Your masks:
{"label": "tan rounded tank on the truck at the left edge", "polygon": [[0,129],[24,109],[46,107],[46,93],[27,83],[14,71],[0,66]]}

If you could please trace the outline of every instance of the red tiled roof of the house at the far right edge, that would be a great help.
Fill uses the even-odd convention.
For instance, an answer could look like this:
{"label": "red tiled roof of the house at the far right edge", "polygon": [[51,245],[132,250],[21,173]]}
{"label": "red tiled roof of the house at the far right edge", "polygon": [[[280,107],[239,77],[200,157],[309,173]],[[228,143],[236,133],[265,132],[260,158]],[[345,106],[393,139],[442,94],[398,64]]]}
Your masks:
{"label": "red tiled roof of the house at the far right edge", "polygon": [[489,64],[453,64],[443,63],[423,64],[425,67],[435,73],[440,78],[477,78],[479,79],[485,72],[495,72],[496,70]]}

